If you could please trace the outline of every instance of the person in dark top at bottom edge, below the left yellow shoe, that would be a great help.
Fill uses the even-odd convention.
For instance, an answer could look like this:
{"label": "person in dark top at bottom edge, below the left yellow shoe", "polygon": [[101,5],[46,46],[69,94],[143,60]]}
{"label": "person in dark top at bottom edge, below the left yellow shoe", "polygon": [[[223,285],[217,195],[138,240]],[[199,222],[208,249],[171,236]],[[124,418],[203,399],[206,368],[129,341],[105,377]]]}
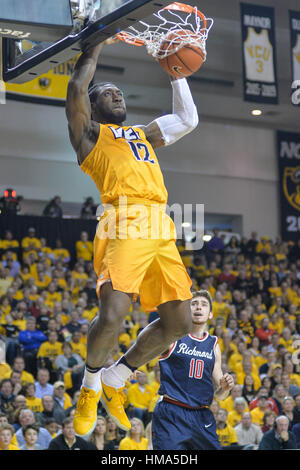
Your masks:
{"label": "person in dark top at bottom edge, below the left yellow shoe", "polygon": [[61,434],[51,440],[48,450],[97,450],[97,447],[92,442],[76,436],[73,418],[65,418]]}

